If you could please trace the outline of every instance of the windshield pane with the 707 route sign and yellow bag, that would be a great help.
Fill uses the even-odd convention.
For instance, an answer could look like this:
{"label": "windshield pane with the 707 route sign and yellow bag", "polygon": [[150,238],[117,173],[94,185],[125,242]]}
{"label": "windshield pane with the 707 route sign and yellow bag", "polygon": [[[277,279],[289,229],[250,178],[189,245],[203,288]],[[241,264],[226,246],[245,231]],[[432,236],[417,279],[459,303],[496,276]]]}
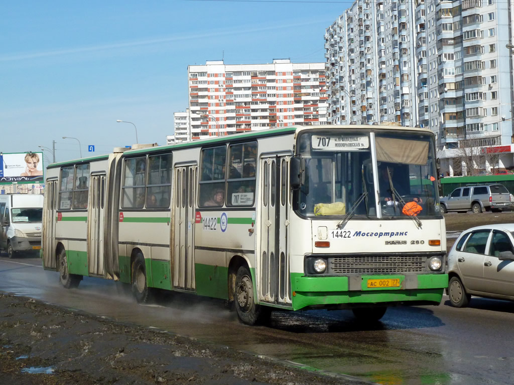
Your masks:
{"label": "windshield pane with the 707 route sign and yellow bag", "polygon": [[370,136],[367,132],[317,131],[298,142],[305,179],[295,206],[305,216],[376,217]]}

